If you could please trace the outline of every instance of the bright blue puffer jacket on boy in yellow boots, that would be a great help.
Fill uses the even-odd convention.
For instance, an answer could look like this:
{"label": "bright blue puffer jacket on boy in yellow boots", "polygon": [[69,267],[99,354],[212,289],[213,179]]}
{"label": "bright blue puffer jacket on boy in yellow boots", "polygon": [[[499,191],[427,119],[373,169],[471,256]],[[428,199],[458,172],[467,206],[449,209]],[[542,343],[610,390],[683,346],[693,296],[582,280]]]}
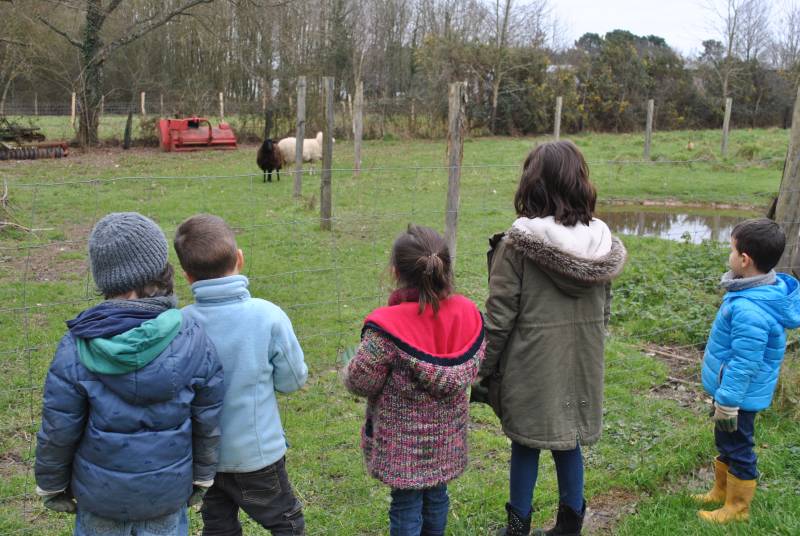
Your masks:
{"label": "bright blue puffer jacket on boy in yellow boots", "polygon": [[800,327],[795,278],[728,292],[722,299],[703,357],[703,387],[723,406],[769,407],[786,350],[786,329]]}

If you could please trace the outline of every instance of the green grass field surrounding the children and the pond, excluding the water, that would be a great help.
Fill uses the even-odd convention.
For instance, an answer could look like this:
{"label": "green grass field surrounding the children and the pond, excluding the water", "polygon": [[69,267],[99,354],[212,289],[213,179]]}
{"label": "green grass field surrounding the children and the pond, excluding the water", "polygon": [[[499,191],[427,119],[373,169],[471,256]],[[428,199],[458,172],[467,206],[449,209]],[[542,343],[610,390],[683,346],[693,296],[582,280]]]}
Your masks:
{"label": "green grass field surrounding the children and the pond, excluding the water", "polygon": [[[787,136],[734,131],[731,156],[720,159],[717,132],[658,133],[649,162],[638,161],[639,135],[575,141],[590,161],[602,201],[760,210],[777,191]],[[465,144],[457,285],[479,303],[486,297],[486,238],[512,221],[519,167],[536,141]],[[294,200],[288,173],[272,184],[253,174],[255,147],[180,155],[107,149],[0,164],[10,197],[0,220],[35,229],[0,230],[0,533],[69,534],[71,519],[45,511],[31,496],[32,438],[63,321],[98,299],[86,269],[86,236],[97,218],[119,210],[153,217],[168,237],[200,211],[236,227],[251,291],[287,311],[311,369],[306,388],[280,399],[290,477],[306,504],[309,533],[386,533],[388,490],[365,474],[358,448],[363,401],[341,387],[338,352],[357,342],[364,315],[385,301],[393,238],[409,221],[442,229],[447,169],[441,141],[368,142],[358,178],[348,170],[351,159],[352,146],[338,141],[333,232],[319,230],[319,174],[304,175],[303,198]],[[590,530],[800,533],[800,427],[791,404],[759,417],[763,476],[752,521],[709,529],[696,520],[687,491],[710,478],[713,439],[694,383],[727,253],[709,243],[623,238],[631,258],[615,286],[605,433],[585,449]],[[190,299],[185,282],[179,281],[178,292],[182,303]],[[487,407],[472,407],[470,448],[469,469],[451,485],[451,534],[487,534],[503,523],[510,449]],[[549,523],[557,504],[552,462],[543,460],[538,524]],[[192,526],[200,526],[196,513]],[[247,534],[261,532],[246,524]]]}

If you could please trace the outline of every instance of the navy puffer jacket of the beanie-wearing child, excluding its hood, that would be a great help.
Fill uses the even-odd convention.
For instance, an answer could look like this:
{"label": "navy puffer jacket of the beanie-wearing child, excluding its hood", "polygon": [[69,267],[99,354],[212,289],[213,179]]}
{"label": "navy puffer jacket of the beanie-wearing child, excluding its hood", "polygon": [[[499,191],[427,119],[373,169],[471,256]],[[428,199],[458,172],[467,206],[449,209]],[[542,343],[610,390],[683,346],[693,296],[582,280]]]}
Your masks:
{"label": "navy puffer jacket of the beanie-wearing child, excluding its hood", "polygon": [[213,480],[222,367],[196,322],[177,326],[157,357],[121,374],[90,371],[74,328],[61,339],[44,387],[39,488],[69,487],[79,509],[145,520],[185,507],[193,481]]}

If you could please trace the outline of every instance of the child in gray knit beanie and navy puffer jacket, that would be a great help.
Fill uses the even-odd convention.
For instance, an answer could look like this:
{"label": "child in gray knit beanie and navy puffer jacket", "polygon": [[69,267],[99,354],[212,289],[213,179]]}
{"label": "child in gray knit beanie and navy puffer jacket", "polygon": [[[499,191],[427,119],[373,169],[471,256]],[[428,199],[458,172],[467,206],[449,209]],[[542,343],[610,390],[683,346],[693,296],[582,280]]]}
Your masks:
{"label": "child in gray knit beanie and navy puffer jacket", "polygon": [[106,301],[67,322],[35,469],[46,507],[77,508],[76,535],[186,536],[187,503],[214,478],[222,367],[175,308],[167,251],[161,229],[135,212],[109,214],[89,235]]}

